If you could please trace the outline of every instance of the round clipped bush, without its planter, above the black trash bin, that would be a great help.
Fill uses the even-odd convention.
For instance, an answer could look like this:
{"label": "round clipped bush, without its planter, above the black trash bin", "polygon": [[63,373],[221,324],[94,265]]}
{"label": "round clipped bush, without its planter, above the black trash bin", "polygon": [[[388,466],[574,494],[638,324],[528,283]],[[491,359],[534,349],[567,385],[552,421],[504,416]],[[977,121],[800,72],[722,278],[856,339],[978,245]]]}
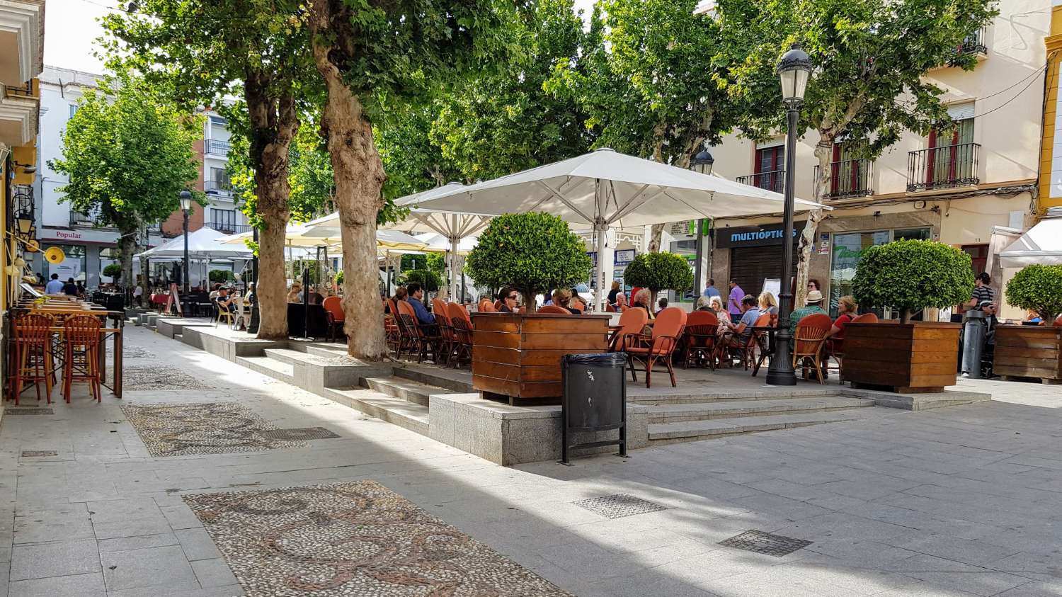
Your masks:
{"label": "round clipped bush, without its planter, above the black trash bin", "polygon": [[480,235],[465,271],[477,285],[516,288],[533,313],[535,294],[571,288],[589,277],[590,258],[561,218],[534,211],[506,214],[491,220]]}

